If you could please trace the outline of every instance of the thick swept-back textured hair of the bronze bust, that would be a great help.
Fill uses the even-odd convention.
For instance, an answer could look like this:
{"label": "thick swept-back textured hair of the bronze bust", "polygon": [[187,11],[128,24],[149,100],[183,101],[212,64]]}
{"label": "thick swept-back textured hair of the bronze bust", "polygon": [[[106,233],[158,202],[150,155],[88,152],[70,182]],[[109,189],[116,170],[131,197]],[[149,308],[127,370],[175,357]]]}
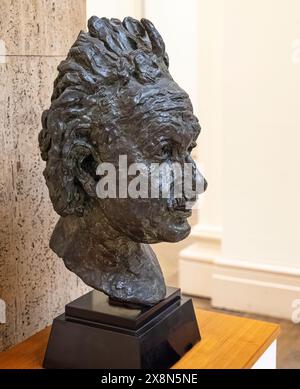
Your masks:
{"label": "thick swept-back textured hair of the bronze bust", "polygon": [[[117,131],[117,119],[124,114],[122,99],[127,115],[133,115],[133,104],[124,104],[124,99],[128,101],[128,96],[138,94],[142,86],[149,84],[153,91],[158,80],[167,79],[170,83],[172,78],[165,45],[156,28],[146,19],[130,17],[123,22],[90,18],[88,32],[80,32],[58,72],[51,106],[42,115],[39,146],[46,161],[44,176],[54,209],[62,216],[80,216],[95,182],[92,173],[82,176],[81,172],[78,180],[78,163],[86,163],[87,170],[95,175],[101,162],[91,144],[92,132],[97,129],[99,143],[105,143],[107,124],[110,128],[115,125]],[[186,106],[179,87],[175,92],[162,89],[159,88],[161,95],[172,95],[169,101],[176,100],[178,105],[181,99]],[[143,103],[135,99],[135,104]]]}

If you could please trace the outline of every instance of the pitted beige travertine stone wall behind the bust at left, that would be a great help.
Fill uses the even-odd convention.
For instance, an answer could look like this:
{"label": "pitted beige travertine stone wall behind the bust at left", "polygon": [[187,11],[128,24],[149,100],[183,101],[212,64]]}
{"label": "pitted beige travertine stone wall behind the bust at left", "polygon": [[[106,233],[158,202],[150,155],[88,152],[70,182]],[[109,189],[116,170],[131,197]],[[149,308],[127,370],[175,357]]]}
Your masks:
{"label": "pitted beige travertine stone wall behind the bust at left", "polygon": [[51,323],[87,290],[48,247],[57,215],[37,141],[56,67],[85,24],[85,0],[0,2],[0,350]]}

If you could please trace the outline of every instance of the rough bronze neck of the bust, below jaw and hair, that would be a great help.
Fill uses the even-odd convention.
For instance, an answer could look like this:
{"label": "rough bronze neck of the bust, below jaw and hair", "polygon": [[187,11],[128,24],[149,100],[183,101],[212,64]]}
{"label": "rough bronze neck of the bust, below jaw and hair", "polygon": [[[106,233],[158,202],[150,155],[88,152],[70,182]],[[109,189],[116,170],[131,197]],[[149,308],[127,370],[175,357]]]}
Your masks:
{"label": "rough bronze neck of the bust, below jaw and hair", "polygon": [[153,305],[165,296],[158,260],[148,244],[114,229],[100,207],[61,217],[51,249],[87,285],[125,302]]}

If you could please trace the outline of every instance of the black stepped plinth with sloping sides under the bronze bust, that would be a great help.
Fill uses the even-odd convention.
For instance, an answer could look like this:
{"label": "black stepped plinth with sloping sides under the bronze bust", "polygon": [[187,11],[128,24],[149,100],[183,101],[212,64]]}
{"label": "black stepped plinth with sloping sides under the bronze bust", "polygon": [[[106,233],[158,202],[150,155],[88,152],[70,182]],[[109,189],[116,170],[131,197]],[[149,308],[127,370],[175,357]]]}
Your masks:
{"label": "black stepped plinth with sloping sides under the bronze bust", "polygon": [[192,300],[168,288],[153,307],[124,307],[98,291],[66,306],[53,321],[45,354],[50,369],[160,369],[200,340]]}

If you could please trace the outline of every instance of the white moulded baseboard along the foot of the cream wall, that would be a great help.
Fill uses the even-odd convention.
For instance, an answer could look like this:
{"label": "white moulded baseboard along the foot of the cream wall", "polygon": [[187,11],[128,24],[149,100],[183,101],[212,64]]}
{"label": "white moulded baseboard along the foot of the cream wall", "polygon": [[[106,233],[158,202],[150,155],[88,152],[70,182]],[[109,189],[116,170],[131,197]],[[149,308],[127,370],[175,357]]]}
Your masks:
{"label": "white moulded baseboard along the foot of the cream wall", "polygon": [[286,319],[300,299],[300,269],[226,260],[203,242],[181,252],[179,282],[183,293],[209,297],[214,307]]}

